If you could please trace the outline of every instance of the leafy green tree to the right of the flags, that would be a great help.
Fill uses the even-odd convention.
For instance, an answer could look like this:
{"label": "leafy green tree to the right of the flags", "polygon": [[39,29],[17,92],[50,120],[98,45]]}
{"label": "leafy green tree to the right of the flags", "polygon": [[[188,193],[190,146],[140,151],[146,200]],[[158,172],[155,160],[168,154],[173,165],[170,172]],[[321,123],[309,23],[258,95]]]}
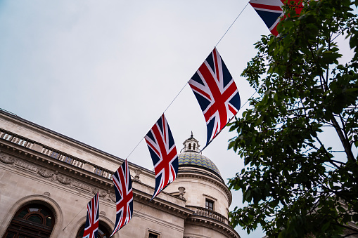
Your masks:
{"label": "leafy green tree to the right of the flags", "polygon": [[[248,205],[230,213],[231,225],[269,237],[340,237],[358,234],[357,0],[290,4],[281,37],[264,36],[242,76],[258,93],[229,124],[229,149],[245,168],[229,180]],[[354,57],[345,65],[335,42],[346,36]],[[325,142],[327,131],[336,135]],[[343,152],[335,152],[338,144]]]}

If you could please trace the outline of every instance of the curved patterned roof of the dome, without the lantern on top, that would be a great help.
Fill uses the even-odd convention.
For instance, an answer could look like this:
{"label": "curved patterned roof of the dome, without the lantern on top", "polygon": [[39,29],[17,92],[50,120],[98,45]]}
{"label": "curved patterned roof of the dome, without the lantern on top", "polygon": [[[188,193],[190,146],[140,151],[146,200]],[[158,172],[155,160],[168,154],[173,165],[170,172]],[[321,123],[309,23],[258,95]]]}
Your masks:
{"label": "curved patterned roof of the dome, without the lantern on top", "polygon": [[194,166],[200,166],[203,168],[208,168],[215,173],[217,173],[219,176],[221,176],[219,169],[217,166],[207,157],[203,156],[203,154],[200,154],[198,152],[183,152],[179,154],[178,156],[179,160],[179,166],[183,165],[194,165]]}

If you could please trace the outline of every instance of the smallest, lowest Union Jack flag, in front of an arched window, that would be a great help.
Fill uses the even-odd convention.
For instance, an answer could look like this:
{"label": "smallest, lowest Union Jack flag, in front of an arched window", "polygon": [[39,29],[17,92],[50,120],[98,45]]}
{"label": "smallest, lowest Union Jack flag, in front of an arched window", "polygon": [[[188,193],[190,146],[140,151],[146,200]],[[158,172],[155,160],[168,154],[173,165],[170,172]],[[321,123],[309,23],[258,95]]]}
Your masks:
{"label": "smallest, lowest Union Jack flag, in front of an arched window", "polygon": [[87,204],[87,219],[83,238],[97,238],[98,232],[99,195],[98,192]]}

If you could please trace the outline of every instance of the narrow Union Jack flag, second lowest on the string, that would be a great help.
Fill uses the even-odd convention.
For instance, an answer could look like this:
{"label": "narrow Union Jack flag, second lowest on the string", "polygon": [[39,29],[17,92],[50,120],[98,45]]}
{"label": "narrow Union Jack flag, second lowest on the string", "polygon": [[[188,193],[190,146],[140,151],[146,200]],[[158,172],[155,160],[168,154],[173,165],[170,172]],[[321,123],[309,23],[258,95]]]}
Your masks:
{"label": "narrow Union Jack flag, second lowest on the string", "polygon": [[117,213],[115,218],[115,228],[110,237],[124,225],[129,223],[129,220],[131,220],[133,215],[132,179],[129,173],[127,159],[122,163],[120,168],[113,173],[112,179],[113,184],[115,185]]}

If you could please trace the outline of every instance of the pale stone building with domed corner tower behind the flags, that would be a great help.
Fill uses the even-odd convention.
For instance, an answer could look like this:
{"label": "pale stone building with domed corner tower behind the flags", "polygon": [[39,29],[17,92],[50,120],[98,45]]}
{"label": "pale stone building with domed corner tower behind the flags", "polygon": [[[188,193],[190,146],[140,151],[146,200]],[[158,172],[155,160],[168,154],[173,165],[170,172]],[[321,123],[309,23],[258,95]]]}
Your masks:
{"label": "pale stone building with domed corner tower behind the flags", "polygon": [[[129,163],[134,216],[113,237],[240,237],[231,192],[191,135],[174,183],[149,202],[153,171]],[[123,159],[0,110],[0,237],[82,237],[87,203],[100,195],[98,237],[115,222],[111,176]]]}

